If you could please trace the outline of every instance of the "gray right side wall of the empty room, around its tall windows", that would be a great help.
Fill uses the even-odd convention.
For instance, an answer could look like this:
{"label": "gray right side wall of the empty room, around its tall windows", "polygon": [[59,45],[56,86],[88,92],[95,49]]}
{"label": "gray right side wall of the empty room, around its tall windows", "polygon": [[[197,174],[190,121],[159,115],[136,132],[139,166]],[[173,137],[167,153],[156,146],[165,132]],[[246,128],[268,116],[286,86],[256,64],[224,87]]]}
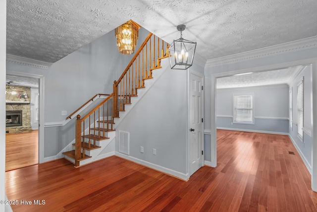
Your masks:
{"label": "gray right side wall of the empty room, around its tall windows", "polygon": [[[304,160],[312,167],[312,66],[307,66],[291,83],[290,88],[293,88],[293,128],[289,128],[289,134],[293,142],[302,152]],[[297,85],[300,79],[304,77],[304,131],[303,141],[297,136]]]}

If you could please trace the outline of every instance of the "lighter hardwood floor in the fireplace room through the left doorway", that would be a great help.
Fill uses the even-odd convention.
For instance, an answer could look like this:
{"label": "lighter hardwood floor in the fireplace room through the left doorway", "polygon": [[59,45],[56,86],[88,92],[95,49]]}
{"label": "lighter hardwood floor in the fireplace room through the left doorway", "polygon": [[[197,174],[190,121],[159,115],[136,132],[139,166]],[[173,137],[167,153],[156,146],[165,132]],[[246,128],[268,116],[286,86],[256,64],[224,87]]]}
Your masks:
{"label": "lighter hardwood floor in the fireplace room through the left doorway", "polygon": [[5,171],[39,163],[38,131],[5,135]]}

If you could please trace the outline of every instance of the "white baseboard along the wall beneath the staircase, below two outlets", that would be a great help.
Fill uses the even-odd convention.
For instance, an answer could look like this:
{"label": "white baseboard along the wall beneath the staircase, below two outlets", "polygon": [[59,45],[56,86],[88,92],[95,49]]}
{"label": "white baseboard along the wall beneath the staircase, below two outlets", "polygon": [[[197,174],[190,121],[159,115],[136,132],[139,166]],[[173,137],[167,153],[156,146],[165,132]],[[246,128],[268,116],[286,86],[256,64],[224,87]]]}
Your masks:
{"label": "white baseboard along the wall beneath the staircase, below two outlets", "polygon": [[147,166],[149,168],[158,170],[160,172],[166,173],[168,175],[175,176],[175,177],[180,178],[180,179],[185,180],[185,181],[187,181],[189,179],[189,173],[184,174],[184,173],[181,173],[181,172],[169,169],[169,168],[165,168],[165,167],[159,166],[159,165],[154,164],[154,163],[150,163],[150,162],[145,161],[145,160],[141,160],[139,158],[135,158],[135,157],[132,157],[132,156],[129,156],[129,155],[126,155],[126,154],[122,154],[122,153],[117,152],[117,151],[115,152],[115,155],[118,156],[118,157],[122,157],[122,158],[124,158],[126,160],[130,160],[130,161],[133,161],[135,163],[138,163],[138,164]]}

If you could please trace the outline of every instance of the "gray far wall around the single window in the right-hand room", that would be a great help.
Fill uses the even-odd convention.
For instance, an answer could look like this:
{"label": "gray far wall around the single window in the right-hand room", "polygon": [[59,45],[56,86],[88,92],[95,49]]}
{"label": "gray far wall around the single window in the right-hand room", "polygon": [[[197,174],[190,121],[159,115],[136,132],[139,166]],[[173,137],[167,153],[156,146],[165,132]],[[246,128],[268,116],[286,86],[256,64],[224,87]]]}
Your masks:
{"label": "gray far wall around the single window in the right-hand room", "polygon": [[[233,94],[254,94],[254,124],[232,124]],[[217,128],[288,133],[287,84],[217,89]]]}

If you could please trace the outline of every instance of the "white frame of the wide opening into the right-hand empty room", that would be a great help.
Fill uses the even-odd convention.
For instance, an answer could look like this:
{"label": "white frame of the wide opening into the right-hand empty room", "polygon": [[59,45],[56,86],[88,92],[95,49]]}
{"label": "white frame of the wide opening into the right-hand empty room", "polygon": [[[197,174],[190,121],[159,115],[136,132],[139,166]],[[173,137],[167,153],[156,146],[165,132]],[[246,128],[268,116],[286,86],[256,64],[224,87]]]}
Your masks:
{"label": "white frame of the wide opening into the right-hand empty room", "polygon": [[[312,114],[313,114],[313,147],[312,147],[312,189],[317,192],[317,58],[272,64],[261,67],[240,69],[211,74],[211,166],[217,164],[217,137],[216,137],[216,78],[230,76],[237,73],[261,72],[276,69],[285,69],[293,66],[312,65]],[[316,136],[314,136],[316,135]],[[314,155],[315,153],[315,155]]]}

